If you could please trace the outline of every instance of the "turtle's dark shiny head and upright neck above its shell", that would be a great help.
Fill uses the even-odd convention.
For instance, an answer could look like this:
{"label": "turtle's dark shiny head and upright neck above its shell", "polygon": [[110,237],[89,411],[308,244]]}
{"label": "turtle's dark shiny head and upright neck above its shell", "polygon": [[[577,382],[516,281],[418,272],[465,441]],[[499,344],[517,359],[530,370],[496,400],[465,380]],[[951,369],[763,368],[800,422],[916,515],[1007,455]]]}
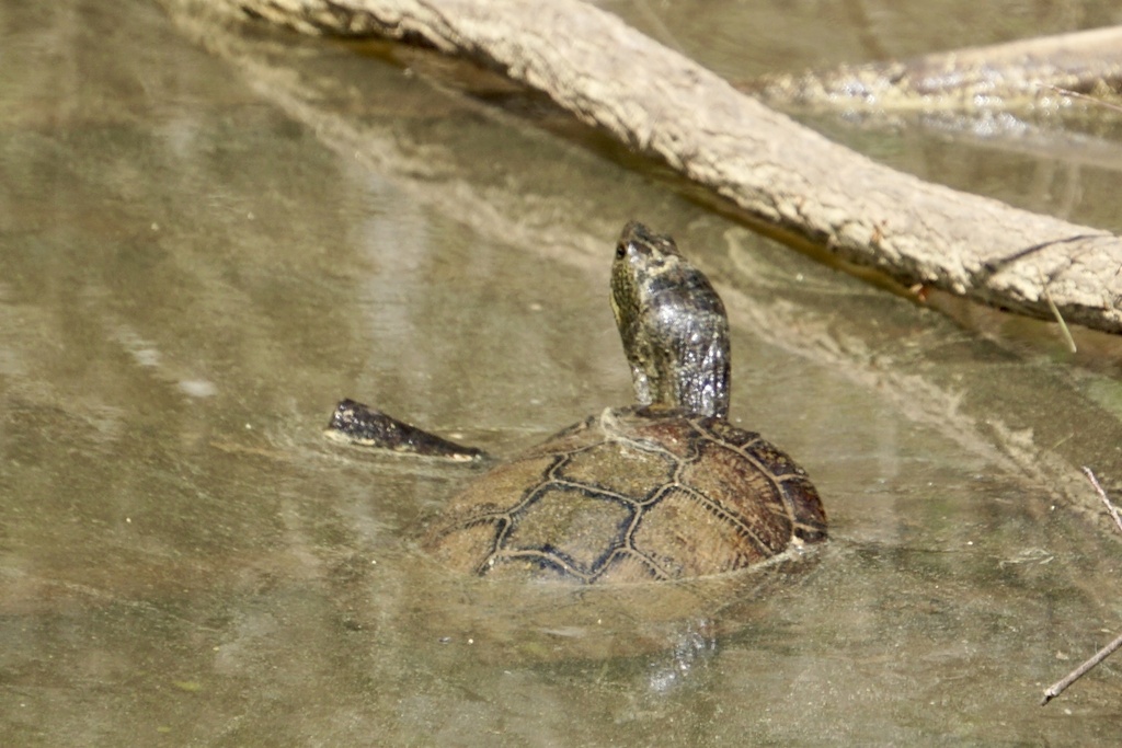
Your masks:
{"label": "turtle's dark shiny head and upright neck above its shell", "polygon": [[728,415],[725,305],[668,236],[624,227],[611,265],[611,311],[640,405]]}

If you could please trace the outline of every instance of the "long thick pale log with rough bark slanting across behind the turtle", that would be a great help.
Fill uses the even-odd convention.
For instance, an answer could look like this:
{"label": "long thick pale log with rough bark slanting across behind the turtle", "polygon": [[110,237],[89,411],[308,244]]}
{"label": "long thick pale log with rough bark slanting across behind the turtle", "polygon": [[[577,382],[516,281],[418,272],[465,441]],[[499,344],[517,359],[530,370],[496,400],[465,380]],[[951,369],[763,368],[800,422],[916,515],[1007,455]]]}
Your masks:
{"label": "long thick pale log with rough bark slanting across behind the turtle", "polygon": [[925,183],[802,128],[578,0],[210,0],[305,33],[424,40],[548,93],[754,220],[974,301],[1122,332],[1114,234]]}

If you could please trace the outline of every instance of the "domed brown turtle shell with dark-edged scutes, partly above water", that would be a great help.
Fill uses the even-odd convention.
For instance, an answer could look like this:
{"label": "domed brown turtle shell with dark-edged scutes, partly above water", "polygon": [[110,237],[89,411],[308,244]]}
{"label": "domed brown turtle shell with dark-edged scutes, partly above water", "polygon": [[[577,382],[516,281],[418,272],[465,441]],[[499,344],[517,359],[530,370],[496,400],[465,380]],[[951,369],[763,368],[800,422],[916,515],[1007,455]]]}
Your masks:
{"label": "domed brown turtle shell with dark-edged scutes, partly above water", "polygon": [[806,472],[758,434],[624,408],[482,475],[424,546],[476,574],[599,583],[720,574],[824,539]]}

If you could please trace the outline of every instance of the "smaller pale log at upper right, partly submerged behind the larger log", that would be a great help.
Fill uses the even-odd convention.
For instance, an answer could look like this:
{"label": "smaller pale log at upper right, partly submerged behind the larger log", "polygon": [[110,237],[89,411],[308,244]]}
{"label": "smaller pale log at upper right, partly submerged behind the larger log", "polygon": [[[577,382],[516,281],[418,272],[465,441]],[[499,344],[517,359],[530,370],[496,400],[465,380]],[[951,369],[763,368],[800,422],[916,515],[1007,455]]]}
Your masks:
{"label": "smaller pale log at upper right, partly submerged behind the larger log", "polygon": [[966,111],[1060,105],[1056,89],[1116,94],[1122,26],[971,47],[903,62],[769,75],[738,86],[770,103],[853,111]]}

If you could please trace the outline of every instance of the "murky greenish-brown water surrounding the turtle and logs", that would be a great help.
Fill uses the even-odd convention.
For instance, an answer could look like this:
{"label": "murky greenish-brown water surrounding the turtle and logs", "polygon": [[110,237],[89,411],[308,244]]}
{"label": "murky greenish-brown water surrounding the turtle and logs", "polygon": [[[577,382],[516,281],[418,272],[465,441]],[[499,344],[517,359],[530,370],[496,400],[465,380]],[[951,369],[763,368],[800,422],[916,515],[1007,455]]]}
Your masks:
{"label": "murky greenish-brown water surrounding the turtle and logs", "polygon": [[[975,18],[964,39],[888,8],[605,4],[729,76],[1111,12],[925,7]],[[416,50],[239,37],[139,1],[8,2],[0,35],[4,745],[1122,732],[1110,662],[1037,705],[1122,630],[1122,551],[1077,470],[1122,495],[1118,341],[1082,333],[1073,357],[1049,325],[917,306]],[[1116,161],[821,127],[1119,230]],[[626,401],[607,270],[633,216],[718,281],[734,417],[810,470],[834,541],[793,583],[716,603],[449,579],[412,538],[471,470],[327,442],[334,401],[498,452]]]}

